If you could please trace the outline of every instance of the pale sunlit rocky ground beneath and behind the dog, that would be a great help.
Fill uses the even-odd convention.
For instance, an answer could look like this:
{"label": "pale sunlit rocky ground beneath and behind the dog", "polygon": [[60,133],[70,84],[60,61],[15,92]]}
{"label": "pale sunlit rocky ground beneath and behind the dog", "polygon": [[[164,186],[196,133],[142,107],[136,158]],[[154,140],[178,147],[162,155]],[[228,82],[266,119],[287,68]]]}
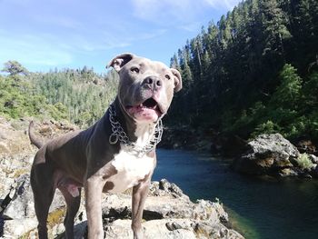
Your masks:
{"label": "pale sunlit rocky ground beneath and behind the dog", "polygon": [[[0,233],[4,238],[36,238],[37,221],[29,184],[36,150],[29,145],[23,130],[27,124],[19,124],[15,127],[9,123],[0,124],[1,145],[5,145],[0,152],[0,205],[5,205],[5,200],[8,202],[4,214],[0,213]],[[51,124],[48,128],[56,130]],[[103,197],[106,238],[133,238],[131,192],[104,194]],[[56,191],[48,217],[50,238],[64,237],[64,215],[64,199]],[[166,180],[151,184],[144,208],[144,238],[243,238],[228,228],[228,224],[222,204],[205,200],[193,203],[177,185]],[[75,238],[86,238],[86,233],[83,198],[75,220]]]}

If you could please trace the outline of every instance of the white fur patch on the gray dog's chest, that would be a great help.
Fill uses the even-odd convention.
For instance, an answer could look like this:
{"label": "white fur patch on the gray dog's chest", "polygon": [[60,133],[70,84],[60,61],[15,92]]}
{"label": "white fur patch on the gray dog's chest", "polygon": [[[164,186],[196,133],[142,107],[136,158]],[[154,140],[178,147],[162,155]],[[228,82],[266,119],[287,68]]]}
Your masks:
{"label": "white fur patch on the gray dog's chest", "polygon": [[121,193],[124,190],[136,185],[140,180],[154,170],[154,157],[137,157],[121,150],[114,156],[112,162],[117,174],[111,176],[107,181],[112,182],[114,187],[109,190],[111,193]]}

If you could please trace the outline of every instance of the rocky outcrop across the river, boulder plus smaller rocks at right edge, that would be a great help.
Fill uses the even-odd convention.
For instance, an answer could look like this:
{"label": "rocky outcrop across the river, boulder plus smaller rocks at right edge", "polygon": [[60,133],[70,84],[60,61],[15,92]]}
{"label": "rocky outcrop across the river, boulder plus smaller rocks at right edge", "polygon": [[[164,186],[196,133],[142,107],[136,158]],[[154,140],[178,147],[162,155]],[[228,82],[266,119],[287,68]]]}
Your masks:
{"label": "rocky outcrop across the river, boulder plus smaller rocks at right edge", "polygon": [[318,177],[318,157],[301,154],[281,134],[261,134],[250,141],[247,148],[234,159],[234,170],[240,173]]}

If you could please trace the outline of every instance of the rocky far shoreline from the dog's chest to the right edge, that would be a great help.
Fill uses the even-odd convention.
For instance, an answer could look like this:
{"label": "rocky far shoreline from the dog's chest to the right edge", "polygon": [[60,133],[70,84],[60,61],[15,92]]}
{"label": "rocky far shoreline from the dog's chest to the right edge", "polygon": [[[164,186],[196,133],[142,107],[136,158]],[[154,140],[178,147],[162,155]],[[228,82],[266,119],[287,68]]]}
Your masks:
{"label": "rocky far shoreline from the dog's chest to the right edge", "polygon": [[232,135],[168,128],[163,148],[209,152],[233,159],[232,168],[242,174],[275,177],[318,178],[318,150],[310,140],[293,145],[281,134],[261,134],[247,142]]}

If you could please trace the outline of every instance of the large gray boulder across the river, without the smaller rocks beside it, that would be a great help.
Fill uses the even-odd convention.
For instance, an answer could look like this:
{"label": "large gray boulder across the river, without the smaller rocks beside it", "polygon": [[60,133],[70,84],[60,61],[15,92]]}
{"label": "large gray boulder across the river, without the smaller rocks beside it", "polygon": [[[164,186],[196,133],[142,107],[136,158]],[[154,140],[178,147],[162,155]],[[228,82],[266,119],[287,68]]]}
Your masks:
{"label": "large gray boulder across the river, without the smaller rocks beside it", "polygon": [[[234,159],[234,170],[244,174],[285,174],[299,151],[281,134],[261,134],[247,144],[249,150]],[[293,172],[290,172],[293,174]]]}

